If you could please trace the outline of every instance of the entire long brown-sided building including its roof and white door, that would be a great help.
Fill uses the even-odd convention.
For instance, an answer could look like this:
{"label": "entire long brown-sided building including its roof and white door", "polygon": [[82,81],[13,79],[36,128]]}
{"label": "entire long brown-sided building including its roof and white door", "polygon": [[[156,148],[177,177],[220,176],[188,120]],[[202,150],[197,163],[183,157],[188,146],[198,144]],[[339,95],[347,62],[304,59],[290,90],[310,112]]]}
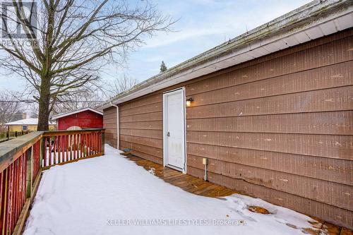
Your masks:
{"label": "entire long brown-sided building including its roof and white door", "polygon": [[352,228],[352,5],[313,1],[122,92],[105,142]]}

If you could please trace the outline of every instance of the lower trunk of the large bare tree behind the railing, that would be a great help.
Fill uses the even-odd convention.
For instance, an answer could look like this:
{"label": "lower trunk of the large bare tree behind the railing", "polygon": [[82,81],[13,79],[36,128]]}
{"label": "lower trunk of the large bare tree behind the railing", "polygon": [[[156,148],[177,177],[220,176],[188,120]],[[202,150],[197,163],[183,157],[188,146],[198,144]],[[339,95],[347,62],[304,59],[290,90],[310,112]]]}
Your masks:
{"label": "lower trunk of the large bare tree behind the railing", "polygon": [[40,100],[37,131],[49,130],[50,78],[44,77],[40,84]]}

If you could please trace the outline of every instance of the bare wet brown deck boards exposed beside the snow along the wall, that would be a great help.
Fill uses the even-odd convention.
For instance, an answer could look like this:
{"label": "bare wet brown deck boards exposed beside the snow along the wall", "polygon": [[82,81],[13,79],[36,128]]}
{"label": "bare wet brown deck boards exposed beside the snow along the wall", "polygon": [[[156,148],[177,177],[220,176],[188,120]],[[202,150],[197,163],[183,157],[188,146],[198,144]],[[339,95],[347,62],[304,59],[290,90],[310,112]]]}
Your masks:
{"label": "bare wet brown deck boards exposed beside the snow along the wall", "polygon": [[[210,198],[225,197],[227,195],[232,195],[233,193],[238,193],[237,191],[234,191],[230,188],[226,188],[224,186],[219,186],[215,183],[204,181],[203,179],[199,179],[189,174],[183,174],[180,171],[170,169],[168,167],[163,167],[161,164],[157,164],[155,162],[151,162],[149,160],[136,157],[131,154],[122,153],[122,155],[135,162],[138,166],[145,168],[147,171],[154,171],[155,176],[159,177],[165,182],[177,186],[183,189],[184,191],[188,191],[189,193],[202,195]],[[335,224],[330,224],[316,217],[313,217],[313,219],[316,219],[318,221],[318,224],[315,224],[315,227],[321,229],[324,234],[353,235],[353,231],[350,229],[347,229],[345,227],[339,227]],[[320,234],[320,231],[318,230],[304,230],[304,234]]]}

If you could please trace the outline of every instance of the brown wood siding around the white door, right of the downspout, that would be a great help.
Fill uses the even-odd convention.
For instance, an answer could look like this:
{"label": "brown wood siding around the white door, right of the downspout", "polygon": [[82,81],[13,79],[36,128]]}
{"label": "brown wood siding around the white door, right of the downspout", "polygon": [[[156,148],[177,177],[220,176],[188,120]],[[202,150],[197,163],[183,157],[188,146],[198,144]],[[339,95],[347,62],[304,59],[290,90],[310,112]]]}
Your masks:
{"label": "brown wood siding around the white door, right of the downspout", "polygon": [[[353,30],[174,86],[187,171],[353,228]],[[121,104],[120,145],[162,163],[162,92]]]}

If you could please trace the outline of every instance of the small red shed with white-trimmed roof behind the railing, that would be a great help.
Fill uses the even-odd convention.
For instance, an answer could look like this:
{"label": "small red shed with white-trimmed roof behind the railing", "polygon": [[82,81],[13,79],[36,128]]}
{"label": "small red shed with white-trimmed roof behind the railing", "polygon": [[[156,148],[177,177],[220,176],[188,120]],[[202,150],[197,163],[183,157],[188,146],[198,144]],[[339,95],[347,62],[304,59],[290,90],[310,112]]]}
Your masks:
{"label": "small red shed with white-trimmed roof behind the railing", "polygon": [[84,108],[52,116],[56,121],[56,130],[102,128],[103,113],[97,109]]}

